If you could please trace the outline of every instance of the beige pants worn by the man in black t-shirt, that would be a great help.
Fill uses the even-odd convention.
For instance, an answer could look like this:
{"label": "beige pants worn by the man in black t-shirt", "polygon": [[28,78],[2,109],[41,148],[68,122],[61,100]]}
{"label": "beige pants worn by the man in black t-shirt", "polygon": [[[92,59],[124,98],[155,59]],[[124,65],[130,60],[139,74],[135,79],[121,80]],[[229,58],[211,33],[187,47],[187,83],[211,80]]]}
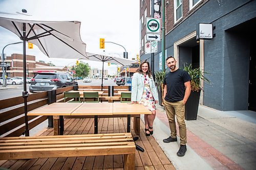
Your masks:
{"label": "beige pants worn by the man in black t-shirt", "polygon": [[166,115],[169,121],[170,126],[170,137],[176,138],[176,123],[175,123],[175,115],[177,118],[177,122],[179,125],[180,132],[180,144],[185,145],[187,142],[187,132],[186,132],[186,124],[185,124],[185,106],[182,101],[179,102],[168,102],[164,100],[164,107],[166,111]]}

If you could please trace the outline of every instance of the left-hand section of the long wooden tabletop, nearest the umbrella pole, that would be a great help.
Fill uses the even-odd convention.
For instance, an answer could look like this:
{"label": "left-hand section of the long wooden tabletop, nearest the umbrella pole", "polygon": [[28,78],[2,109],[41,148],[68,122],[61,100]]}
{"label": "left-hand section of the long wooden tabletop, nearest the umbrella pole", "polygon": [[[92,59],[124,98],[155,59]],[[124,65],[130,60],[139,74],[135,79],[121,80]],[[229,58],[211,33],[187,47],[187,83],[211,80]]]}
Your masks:
{"label": "left-hand section of the long wooden tabletop, nearest the umbrella pole", "polygon": [[37,110],[32,110],[28,115],[71,115],[81,105],[82,103],[53,103]]}

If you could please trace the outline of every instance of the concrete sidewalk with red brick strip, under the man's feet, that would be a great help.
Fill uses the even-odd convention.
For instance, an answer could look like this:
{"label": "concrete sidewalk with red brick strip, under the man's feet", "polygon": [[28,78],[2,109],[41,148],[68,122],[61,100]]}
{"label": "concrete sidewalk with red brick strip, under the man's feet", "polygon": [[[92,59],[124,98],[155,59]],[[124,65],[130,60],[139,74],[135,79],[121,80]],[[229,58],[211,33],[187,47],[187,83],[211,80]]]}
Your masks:
{"label": "concrete sidewalk with red brick strip, under the man's feet", "polygon": [[[143,115],[141,118],[144,120]],[[163,107],[157,106],[153,136],[176,169],[255,168],[256,112],[223,112],[199,106],[197,120],[186,120],[186,126],[187,152],[178,157],[179,138],[178,142],[162,141],[170,130]]]}

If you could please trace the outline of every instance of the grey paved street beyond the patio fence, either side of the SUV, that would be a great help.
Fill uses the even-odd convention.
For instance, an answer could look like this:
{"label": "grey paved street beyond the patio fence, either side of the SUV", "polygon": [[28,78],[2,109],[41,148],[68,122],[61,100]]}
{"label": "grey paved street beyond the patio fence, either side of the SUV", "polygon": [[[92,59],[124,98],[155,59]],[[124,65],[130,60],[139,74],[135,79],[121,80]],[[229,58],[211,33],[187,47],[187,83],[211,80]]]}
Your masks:
{"label": "grey paved street beyond the patio fence, either side of the SUV", "polygon": [[[101,79],[92,79],[91,83],[83,83],[82,80],[78,80],[78,85],[84,86],[100,86]],[[103,85],[106,86],[116,86],[114,79],[103,80]],[[30,84],[27,84],[27,90],[29,91]],[[14,98],[16,96],[21,96],[23,91],[22,85],[7,85],[7,89],[3,89],[2,85],[0,85],[0,100]]]}

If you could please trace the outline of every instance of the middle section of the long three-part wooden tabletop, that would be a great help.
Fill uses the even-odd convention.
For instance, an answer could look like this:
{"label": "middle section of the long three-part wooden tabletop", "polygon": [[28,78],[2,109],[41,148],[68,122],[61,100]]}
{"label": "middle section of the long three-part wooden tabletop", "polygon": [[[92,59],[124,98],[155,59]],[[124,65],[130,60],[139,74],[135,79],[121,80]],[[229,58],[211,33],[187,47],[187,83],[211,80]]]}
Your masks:
{"label": "middle section of the long three-part wooden tabletop", "polygon": [[112,115],[113,103],[83,103],[71,115]]}

